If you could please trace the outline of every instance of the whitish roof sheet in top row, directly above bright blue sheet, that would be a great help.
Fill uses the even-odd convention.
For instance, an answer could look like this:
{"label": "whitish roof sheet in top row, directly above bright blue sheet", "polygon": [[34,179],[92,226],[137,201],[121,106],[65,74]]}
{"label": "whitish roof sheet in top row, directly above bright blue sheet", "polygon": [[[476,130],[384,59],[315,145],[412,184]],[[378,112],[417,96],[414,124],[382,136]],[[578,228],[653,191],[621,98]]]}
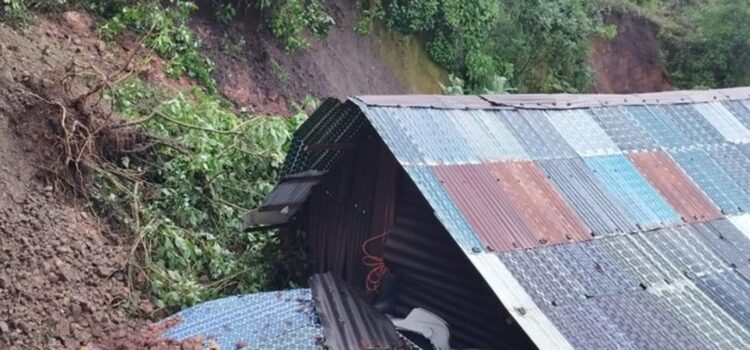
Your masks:
{"label": "whitish roof sheet in top row, directly above bright blue sheet", "polygon": [[547,120],[581,156],[619,154],[620,148],[585,110],[547,112]]}

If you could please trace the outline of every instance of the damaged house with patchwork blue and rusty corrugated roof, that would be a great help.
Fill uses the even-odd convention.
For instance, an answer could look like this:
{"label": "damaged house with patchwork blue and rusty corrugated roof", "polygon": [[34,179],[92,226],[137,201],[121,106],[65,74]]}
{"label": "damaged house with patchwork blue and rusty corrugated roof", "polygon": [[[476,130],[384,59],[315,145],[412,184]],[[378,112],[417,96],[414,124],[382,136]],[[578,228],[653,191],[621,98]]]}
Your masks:
{"label": "damaged house with patchwork blue and rusty corrugated roof", "polygon": [[328,99],[282,173],[246,228],[454,347],[750,347],[750,89]]}

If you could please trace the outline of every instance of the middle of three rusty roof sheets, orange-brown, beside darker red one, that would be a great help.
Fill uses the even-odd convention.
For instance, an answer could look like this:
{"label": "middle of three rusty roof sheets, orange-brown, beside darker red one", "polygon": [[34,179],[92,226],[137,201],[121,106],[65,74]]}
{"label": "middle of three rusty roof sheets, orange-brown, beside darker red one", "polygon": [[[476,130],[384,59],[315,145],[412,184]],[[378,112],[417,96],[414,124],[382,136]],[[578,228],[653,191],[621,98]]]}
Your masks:
{"label": "middle of three rusty roof sheets, orange-brown, beside darker red one", "polygon": [[530,161],[486,164],[534,232],[551,244],[591,238],[591,230]]}

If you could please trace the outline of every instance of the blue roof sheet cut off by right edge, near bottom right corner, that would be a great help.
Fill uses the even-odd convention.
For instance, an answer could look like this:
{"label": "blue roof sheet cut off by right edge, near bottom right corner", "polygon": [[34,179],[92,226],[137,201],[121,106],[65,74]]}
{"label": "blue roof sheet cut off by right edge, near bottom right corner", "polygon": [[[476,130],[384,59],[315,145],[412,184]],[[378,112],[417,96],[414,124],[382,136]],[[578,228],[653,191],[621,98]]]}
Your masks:
{"label": "blue roof sheet cut off by right edge, near bottom right corner", "polygon": [[711,300],[750,329],[750,282],[734,271],[700,277],[698,288]]}

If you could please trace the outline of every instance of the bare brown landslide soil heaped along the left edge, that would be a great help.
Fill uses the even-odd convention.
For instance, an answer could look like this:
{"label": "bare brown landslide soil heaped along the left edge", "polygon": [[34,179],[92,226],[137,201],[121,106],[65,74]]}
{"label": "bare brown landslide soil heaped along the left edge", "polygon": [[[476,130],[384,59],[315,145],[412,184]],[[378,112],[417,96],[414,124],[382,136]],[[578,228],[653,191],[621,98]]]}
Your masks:
{"label": "bare brown landslide soil heaped along the left edge", "polygon": [[0,43],[0,349],[77,349],[140,334],[148,315],[123,306],[153,306],[128,287],[128,235],[62,196],[74,177],[49,181],[65,169],[60,128],[93,126],[86,106],[68,100],[91,86],[60,78],[74,62],[106,74],[123,64],[115,57],[129,55],[108,49],[77,12],[42,18],[26,32],[0,24]]}

